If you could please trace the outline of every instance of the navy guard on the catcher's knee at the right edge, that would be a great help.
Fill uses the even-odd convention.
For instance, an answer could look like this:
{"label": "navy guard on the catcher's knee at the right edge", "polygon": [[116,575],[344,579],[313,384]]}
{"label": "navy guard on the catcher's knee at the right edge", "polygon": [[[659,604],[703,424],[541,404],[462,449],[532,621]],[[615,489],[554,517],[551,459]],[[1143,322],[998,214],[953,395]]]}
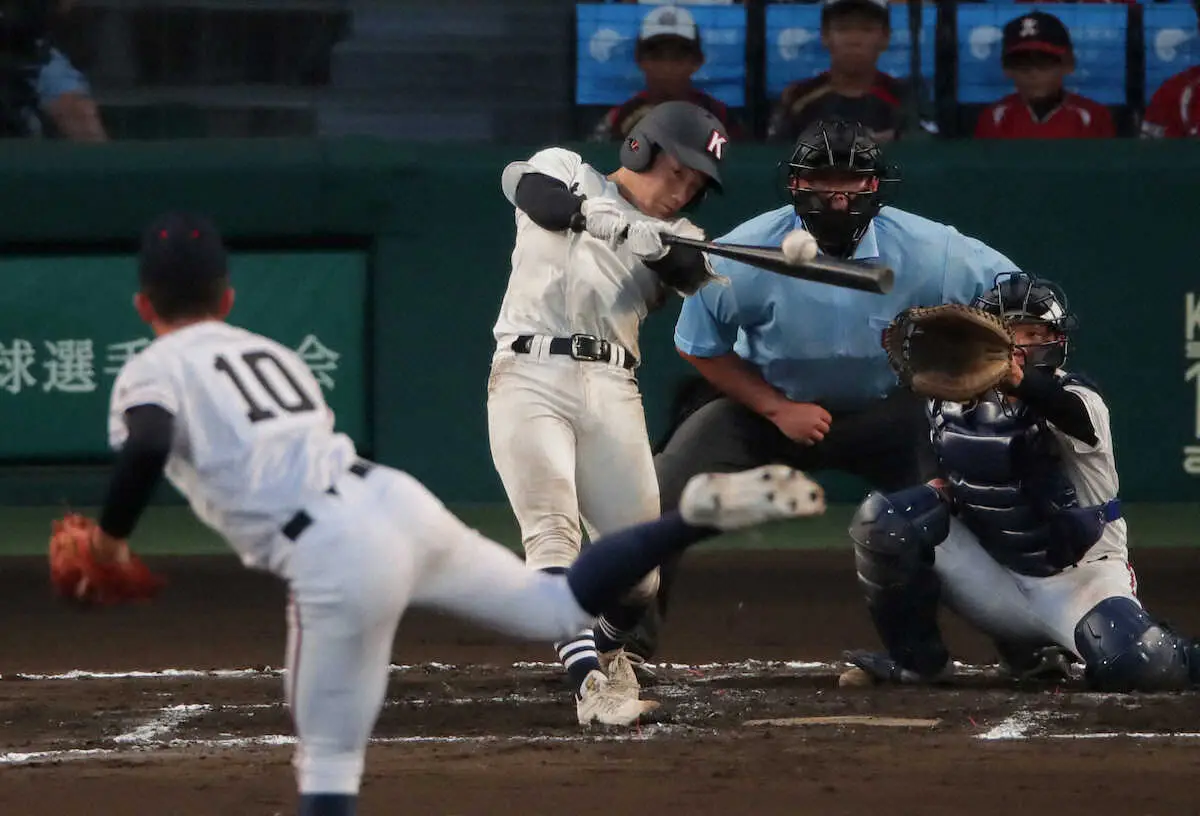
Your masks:
{"label": "navy guard on the catcher's knee at the right edge", "polygon": [[1130,598],[1106,598],[1075,625],[1075,650],[1097,691],[1176,691],[1194,682],[1195,646]]}

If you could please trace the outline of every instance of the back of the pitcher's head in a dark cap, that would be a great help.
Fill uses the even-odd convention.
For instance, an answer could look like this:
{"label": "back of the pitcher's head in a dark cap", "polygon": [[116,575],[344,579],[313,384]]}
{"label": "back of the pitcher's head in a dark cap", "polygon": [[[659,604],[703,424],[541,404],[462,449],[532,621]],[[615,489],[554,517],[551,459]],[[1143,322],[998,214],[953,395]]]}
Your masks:
{"label": "back of the pitcher's head in a dark cap", "polygon": [[224,242],[204,216],[172,212],[142,235],[138,284],[163,320],[208,317],[229,288]]}

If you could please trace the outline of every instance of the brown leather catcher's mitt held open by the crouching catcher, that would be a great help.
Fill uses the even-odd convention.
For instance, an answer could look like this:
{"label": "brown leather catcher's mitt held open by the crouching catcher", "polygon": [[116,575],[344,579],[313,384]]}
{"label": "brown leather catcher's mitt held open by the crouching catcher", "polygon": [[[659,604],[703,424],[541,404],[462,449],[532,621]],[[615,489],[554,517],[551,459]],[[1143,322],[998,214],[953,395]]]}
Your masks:
{"label": "brown leather catcher's mitt held open by the crouching catcher", "polygon": [[995,314],[946,304],[907,308],[883,330],[900,383],[935,400],[970,402],[1008,376],[1013,335]]}

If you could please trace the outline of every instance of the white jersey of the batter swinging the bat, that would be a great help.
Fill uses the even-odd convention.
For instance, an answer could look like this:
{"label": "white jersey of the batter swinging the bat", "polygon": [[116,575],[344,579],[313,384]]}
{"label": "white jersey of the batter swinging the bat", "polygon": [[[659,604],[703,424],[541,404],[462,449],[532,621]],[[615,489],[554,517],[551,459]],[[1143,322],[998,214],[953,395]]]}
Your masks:
{"label": "white jersey of the batter swinging the bat", "polygon": [[[570,150],[548,148],[529,161],[504,168],[500,184],[514,205],[517,182],[526,173],[558,179],[588,198],[612,199],[630,223],[654,221],[626,202],[616,184]],[[520,209],[516,227],[512,275],[493,329],[497,347],[508,348],[518,335],[586,334],[619,343],[640,356],[641,322],[666,298],[667,290],[658,275],[624,244],[613,247],[586,232],[553,233],[535,224]]]}

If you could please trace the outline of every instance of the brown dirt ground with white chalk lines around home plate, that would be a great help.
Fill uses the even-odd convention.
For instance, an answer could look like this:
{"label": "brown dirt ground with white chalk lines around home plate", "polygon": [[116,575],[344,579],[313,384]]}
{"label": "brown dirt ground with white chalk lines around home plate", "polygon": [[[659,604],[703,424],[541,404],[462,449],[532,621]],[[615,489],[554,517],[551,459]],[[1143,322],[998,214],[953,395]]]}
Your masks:
{"label": "brown dirt ground with white chalk lines around home plate", "polygon": [[[1196,563],[1136,560],[1142,600],[1189,632]],[[154,565],[160,602],[85,614],[50,601],[42,562],[0,562],[0,814],[293,812],[282,588],[233,558]],[[662,707],[631,731],[575,726],[548,648],[407,616],[360,812],[1195,809],[1195,695],[1013,689],[953,619],[954,688],[840,690],[842,649],[876,642],[847,552],[700,552],[685,570],[647,689]],[[746,725],[791,718],[851,719]]]}

